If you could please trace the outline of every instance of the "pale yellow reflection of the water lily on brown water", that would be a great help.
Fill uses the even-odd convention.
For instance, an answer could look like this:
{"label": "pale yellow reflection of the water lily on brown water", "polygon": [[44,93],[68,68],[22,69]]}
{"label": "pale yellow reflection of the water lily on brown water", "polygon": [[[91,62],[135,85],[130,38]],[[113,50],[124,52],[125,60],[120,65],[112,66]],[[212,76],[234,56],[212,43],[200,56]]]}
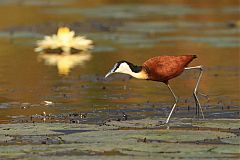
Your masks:
{"label": "pale yellow reflection of the water lily on brown water", "polygon": [[91,57],[92,55],[89,51],[76,54],[41,53],[38,55],[38,60],[44,61],[44,63],[49,66],[57,66],[60,75],[68,75],[72,68],[77,65],[84,65]]}

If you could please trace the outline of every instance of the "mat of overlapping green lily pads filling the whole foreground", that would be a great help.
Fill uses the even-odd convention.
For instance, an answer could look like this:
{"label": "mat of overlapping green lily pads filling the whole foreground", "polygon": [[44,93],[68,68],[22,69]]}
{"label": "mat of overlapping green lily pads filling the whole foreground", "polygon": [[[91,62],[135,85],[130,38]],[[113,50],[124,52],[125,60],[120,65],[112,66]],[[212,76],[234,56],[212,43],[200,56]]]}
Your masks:
{"label": "mat of overlapping green lily pads filling the whole foreground", "polygon": [[0,125],[3,159],[238,159],[240,120]]}

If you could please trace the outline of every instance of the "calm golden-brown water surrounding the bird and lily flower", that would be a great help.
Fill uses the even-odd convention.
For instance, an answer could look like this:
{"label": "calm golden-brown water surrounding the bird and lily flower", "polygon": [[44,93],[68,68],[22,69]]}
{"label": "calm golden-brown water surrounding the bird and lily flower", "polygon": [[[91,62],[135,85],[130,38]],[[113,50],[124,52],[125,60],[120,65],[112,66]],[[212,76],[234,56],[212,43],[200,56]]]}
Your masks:
{"label": "calm golden-brown water surrounding the bird and lily flower", "polygon": [[[195,2],[195,1],[194,1]],[[104,75],[116,61],[141,64],[158,55],[197,54],[204,65],[200,97],[208,118],[239,117],[240,8],[238,1],[0,1],[0,123],[51,114],[83,121],[166,117],[172,97],[162,83]],[[39,56],[35,42],[68,26],[92,39],[90,53]],[[50,61],[54,63],[50,64]],[[60,62],[59,62],[60,61]],[[63,62],[63,63],[61,63]],[[173,116],[194,117],[197,73],[170,81],[180,96]],[[46,106],[44,101],[54,102]],[[191,113],[191,114],[190,114]]]}

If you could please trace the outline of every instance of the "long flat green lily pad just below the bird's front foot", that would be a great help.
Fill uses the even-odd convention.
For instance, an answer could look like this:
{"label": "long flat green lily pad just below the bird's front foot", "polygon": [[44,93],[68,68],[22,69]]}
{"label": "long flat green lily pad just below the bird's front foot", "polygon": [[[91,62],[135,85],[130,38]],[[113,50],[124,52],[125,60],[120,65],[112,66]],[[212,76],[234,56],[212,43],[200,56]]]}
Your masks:
{"label": "long flat green lily pad just below the bird's front foot", "polygon": [[[93,131],[91,133],[74,133],[64,135],[62,139],[67,142],[79,143],[109,143],[115,141],[119,145],[124,141],[135,141],[146,138],[151,141],[163,142],[195,142],[205,139],[218,139],[234,136],[232,133],[215,131],[189,131],[189,130],[120,130],[120,131]],[[113,143],[113,142],[111,142]]]}

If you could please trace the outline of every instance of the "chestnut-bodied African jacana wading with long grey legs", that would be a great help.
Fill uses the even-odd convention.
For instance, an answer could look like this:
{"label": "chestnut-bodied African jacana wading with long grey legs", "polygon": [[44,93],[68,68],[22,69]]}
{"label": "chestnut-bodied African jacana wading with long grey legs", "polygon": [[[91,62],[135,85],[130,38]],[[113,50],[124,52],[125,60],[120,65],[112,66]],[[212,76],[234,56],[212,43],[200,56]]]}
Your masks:
{"label": "chestnut-bodied African jacana wading with long grey legs", "polygon": [[135,77],[137,79],[145,79],[165,83],[168,86],[169,90],[171,91],[175,100],[172,110],[169,113],[168,118],[165,122],[168,123],[178,102],[178,98],[171,89],[168,81],[174,77],[179,76],[184,70],[199,69],[200,73],[193,91],[193,96],[196,103],[196,114],[199,115],[200,108],[202,116],[204,118],[203,111],[197,97],[197,88],[202,77],[203,68],[202,66],[188,67],[188,64],[194,58],[197,58],[197,56],[196,55],[158,56],[145,61],[142,66],[137,66],[127,61],[119,61],[106,74],[105,78],[113,73],[124,73],[131,75],[132,77]]}

